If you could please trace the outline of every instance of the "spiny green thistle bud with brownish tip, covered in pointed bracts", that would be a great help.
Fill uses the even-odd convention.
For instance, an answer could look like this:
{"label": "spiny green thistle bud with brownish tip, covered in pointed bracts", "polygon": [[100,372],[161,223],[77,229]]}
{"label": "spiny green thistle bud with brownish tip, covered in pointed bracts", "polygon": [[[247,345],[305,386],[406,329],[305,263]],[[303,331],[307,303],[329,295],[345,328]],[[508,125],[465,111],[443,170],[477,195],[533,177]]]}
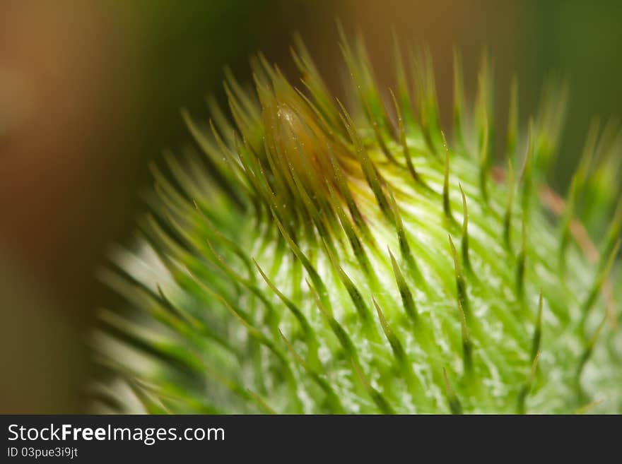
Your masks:
{"label": "spiny green thistle bud with brownish tip, covered in pointed bracts", "polygon": [[521,133],[516,85],[498,124],[491,66],[467,107],[456,54],[446,139],[428,52],[404,66],[396,42],[385,93],[341,47],[348,109],[298,40],[303,90],[259,55],[256,92],[227,73],[229,116],[183,113],[205,156],[153,166],[136,248],[102,271],[128,304],[100,312],[96,410],[622,412],[619,134],[592,128],[563,201],[562,85]]}

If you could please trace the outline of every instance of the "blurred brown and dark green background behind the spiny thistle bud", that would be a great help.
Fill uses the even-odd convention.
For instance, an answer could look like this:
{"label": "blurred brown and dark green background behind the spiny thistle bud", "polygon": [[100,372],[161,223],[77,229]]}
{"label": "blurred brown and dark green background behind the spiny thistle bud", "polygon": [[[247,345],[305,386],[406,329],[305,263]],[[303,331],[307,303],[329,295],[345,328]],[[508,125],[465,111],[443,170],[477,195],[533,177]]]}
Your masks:
{"label": "blurred brown and dark green background behind the spiny thistle bud", "polygon": [[81,412],[84,340],[107,294],[95,279],[124,242],[146,164],[190,140],[223,66],[248,81],[258,49],[291,71],[299,31],[339,93],[335,19],[363,32],[389,85],[391,31],[429,45],[444,121],[452,47],[474,93],[481,52],[504,118],[510,78],[534,112],[550,71],[570,83],[563,191],[594,115],[622,116],[622,2],[418,0],[3,0],[0,2],[0,412]]}

